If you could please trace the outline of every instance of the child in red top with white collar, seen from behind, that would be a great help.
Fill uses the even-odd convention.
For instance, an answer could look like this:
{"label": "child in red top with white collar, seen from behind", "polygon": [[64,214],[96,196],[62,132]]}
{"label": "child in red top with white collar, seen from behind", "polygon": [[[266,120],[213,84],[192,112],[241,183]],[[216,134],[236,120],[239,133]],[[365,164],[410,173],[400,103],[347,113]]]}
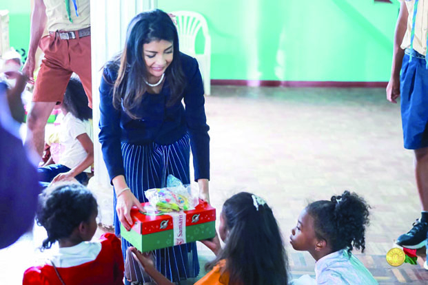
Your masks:
{"label": "child in red top with white collar, seen from behind", "polygon": [[41,249],[55,242],[59,249],[41,266],[28,268],[23,285],[121,284],[121,241],[111,233],[91,242],[96,231],[98,206],[81,184],[57,184],[45,189],[37,209],[37,223],[48,232]]}

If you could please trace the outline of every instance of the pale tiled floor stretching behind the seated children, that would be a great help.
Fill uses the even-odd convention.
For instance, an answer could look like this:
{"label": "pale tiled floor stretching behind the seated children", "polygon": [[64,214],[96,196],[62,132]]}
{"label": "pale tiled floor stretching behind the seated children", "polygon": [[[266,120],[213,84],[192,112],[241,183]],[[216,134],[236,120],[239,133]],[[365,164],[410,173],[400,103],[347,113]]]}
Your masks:
{"label": "pale tiled floor stretching behind the seated children", "polygon": [[[214,207],[233,193],[251,191],[274,209],[294,277],[314,275],[314,260],[288,244],[290,229],[308,201],[345,189],[371,204],[371,225],[360,260],[379,284],[428,284],[418,265],[391,267],[385,254],[420,215],[413,154],[402,148],[398,105],[383,89],[214,86],[206,109],[211,127],[210,193]],[[219,212],[219,211],[218,211]],[[34,238],[33,238],[33,237]],[[37,229],[0,251],[0,283],[19,284],[37,258]],[[201,264],[212,257],[203,246]],[[191,282],[187,282],[191,284]]]}

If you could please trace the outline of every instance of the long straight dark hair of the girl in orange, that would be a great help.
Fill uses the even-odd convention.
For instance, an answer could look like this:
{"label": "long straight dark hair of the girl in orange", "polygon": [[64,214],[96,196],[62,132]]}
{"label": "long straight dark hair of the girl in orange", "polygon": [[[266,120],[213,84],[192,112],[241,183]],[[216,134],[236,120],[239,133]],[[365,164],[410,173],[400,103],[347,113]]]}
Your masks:
{"label": "long straight dark hair of the girl in orange", "polygon": [[226,260],[229,284],[287,284],[287,254],[272,209],[259,204],[257,210],[252,194],[241,192],[226,200],[222,215],[229,232],[225,248],[205,268]]}

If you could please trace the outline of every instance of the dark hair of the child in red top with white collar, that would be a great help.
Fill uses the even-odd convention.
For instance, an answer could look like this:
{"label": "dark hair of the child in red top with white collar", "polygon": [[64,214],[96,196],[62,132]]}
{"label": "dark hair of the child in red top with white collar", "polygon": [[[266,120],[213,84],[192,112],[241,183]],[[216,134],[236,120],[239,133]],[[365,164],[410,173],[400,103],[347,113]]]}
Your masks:
{"label": "dark hair of the child in red top with white collar", "polygon": [[81,222],[88,222],[97,207],[92,193],[81,184],[57,184],[45,189],[36,213],[37,224],[48,232],[41,250],[69,237]]}

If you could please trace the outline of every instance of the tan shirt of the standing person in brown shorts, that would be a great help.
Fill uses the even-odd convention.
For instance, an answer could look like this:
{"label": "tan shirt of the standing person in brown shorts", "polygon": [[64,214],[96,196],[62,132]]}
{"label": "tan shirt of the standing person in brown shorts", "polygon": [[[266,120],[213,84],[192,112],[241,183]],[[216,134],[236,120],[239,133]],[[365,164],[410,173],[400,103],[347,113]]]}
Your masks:
{"label": "tan shirt of the standing person in brown shorts", "polygon": [[90,26],[90,0],[76,0],[79,17],[77,17],[76,10],[74,10],[73,1],[69,1],[73,22],[68,19],[64,0],[43,0],[46,6],[46,16],[48,17],[48,31],[75,31]]}

